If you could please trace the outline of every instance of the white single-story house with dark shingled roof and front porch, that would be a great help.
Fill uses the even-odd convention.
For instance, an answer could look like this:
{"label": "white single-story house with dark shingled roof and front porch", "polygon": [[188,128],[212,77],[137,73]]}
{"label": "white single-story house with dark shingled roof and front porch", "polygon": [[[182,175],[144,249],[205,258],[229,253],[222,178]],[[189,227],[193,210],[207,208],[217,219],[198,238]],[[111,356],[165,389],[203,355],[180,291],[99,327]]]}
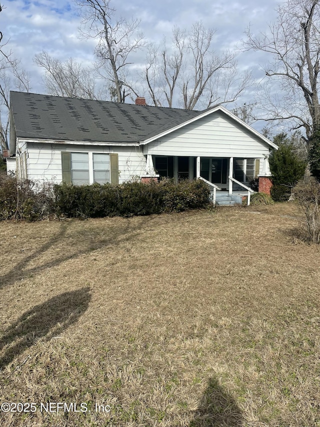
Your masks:
{"label": "white single-story house with dark shingled roof and front porch", "polygon": [[[216,190],[269,186],[276,145],[222,106],[204,111],[10,92],[7,169],[74,184],[201,178]],[[263,177],[262,177],[263,175]],[[267,191],[267,190],[265,190]],[[249,195],[249,193],[248,193]]]}

